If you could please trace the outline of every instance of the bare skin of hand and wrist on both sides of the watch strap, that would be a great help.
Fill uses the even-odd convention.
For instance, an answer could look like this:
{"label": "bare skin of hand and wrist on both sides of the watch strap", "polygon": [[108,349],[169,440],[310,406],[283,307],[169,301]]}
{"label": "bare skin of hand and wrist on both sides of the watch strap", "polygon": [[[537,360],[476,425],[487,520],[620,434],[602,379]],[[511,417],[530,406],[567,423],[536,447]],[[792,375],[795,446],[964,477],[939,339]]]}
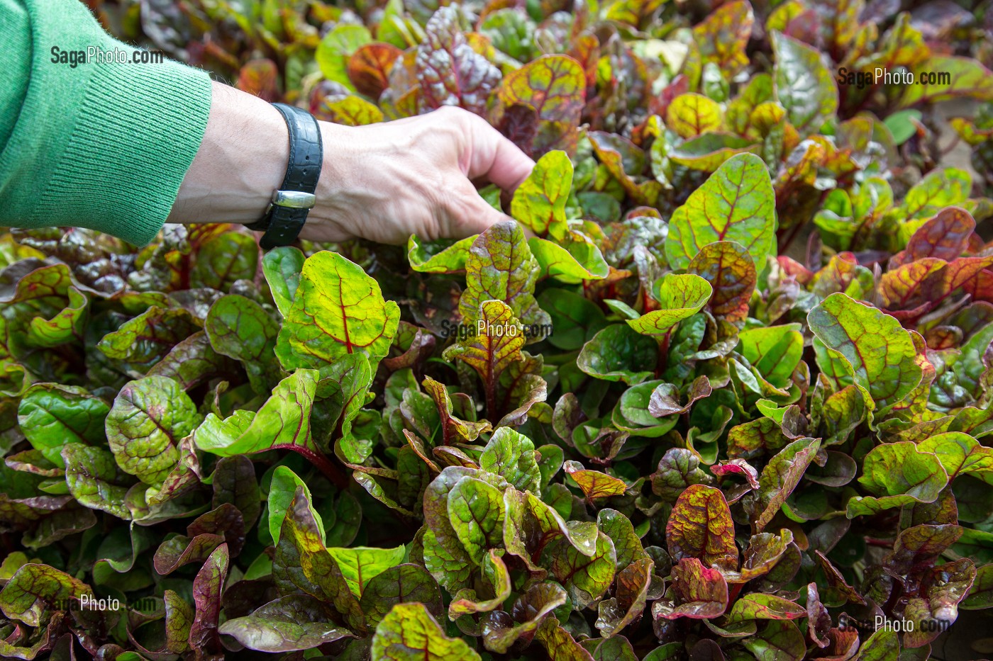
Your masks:
{"label": "bare skin of hand and wrist on both sides of the watch strap", "polygon": [[[483,118],[456,107],[368,126],[320,122],[324,164],[300,236],[403,243],[477,234],[507,216],[476,191],[512,192],[534,162]],[[289,158],[282,115],[260,98],[213,83],[200,151],[169,222],[254,222],[282,184]]]}

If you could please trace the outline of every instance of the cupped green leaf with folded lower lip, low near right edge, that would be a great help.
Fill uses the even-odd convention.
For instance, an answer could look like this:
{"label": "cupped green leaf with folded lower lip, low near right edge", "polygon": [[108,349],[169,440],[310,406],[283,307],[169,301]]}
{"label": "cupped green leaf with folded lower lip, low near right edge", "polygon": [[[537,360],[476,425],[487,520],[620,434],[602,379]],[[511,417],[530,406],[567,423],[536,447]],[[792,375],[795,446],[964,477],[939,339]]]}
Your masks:
{"label": "cupped green leaf with folded lower lip, low near right edge", "polygon": [[854,496],[848,501],[848,518],[878,511],[933,502],[948,483],[938,458],[922,452],[910,441],[873,448],[866,455],[859,482],[873,495]]}

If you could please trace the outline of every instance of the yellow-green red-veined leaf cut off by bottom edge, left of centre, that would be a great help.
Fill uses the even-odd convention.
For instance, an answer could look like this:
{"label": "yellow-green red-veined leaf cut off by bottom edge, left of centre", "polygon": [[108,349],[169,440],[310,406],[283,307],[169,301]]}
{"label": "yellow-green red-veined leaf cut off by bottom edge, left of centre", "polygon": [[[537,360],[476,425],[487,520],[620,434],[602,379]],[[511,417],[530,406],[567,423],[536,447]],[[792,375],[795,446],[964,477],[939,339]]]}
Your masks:
{"label": "yellow-green red-veined leaf cut off by bottom edge, left of centre", "polygon": [[372,636],[372,658],[390,661],[480,661],[461,638],[449,638],[423,603],[398,603]]}

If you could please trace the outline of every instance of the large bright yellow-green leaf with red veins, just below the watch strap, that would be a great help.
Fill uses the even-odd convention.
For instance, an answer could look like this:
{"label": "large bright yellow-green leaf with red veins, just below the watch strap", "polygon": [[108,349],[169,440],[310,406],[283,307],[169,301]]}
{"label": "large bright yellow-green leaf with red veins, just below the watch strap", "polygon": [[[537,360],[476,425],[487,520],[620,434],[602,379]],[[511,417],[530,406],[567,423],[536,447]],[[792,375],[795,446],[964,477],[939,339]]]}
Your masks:
{"label": "large bright yellow-green leaf with red veins, just below the watch strap", "polygon": [[399,321],[399,306],[383,300],[379,283],[345,257],[321,251],[304,262],[276,355],[284,369],[325,372],[343,355],[364,353],[374,369]]}

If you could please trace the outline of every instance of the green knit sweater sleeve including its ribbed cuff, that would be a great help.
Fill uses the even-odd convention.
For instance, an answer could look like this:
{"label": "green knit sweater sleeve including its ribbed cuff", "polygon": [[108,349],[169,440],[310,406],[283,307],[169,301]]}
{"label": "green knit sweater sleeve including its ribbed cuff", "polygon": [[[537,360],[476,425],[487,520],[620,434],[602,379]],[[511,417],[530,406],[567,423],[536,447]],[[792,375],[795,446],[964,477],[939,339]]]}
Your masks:
{"label": "green knit sweater sleeve including its ribbed cuff", "polygon": [[[207,72],[132,64],[76,0],[0,0],[0,44],[0,225],[151,241],[204,138]],[[71,66],[87,47],[128,62]]]}

